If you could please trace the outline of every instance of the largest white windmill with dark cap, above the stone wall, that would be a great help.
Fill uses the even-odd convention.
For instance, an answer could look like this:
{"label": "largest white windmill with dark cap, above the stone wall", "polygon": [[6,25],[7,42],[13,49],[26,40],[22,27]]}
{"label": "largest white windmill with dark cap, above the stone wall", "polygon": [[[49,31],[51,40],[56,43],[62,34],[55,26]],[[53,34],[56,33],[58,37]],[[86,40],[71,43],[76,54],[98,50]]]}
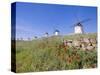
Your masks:
{"label": "largest white windmill with dark cap, above the stone wall", "polygon": [[74,33],[75,34],[83,34],[84,33],[84,29],[83,29],[83,23],[90,21],[91,19],[85,19],[82,21],[79,21],[77,23],[75,23],[74,26]]}

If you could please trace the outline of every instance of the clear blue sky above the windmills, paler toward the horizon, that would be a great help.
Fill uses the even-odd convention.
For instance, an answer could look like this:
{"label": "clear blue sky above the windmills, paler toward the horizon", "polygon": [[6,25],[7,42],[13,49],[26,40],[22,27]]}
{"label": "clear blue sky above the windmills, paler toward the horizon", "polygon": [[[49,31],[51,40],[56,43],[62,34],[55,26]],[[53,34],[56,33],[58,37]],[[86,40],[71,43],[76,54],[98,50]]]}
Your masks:
{"label": "clear blue sky above the windmills, paler toward the horizon", "polygon": [[45,32],[53,35],[55,29],[60,34],[74,32],[72,25],[90,18],[83,23],[87,33],[97,32],[97,8],[58,4],[16,3],[17,38],[42,37]]}

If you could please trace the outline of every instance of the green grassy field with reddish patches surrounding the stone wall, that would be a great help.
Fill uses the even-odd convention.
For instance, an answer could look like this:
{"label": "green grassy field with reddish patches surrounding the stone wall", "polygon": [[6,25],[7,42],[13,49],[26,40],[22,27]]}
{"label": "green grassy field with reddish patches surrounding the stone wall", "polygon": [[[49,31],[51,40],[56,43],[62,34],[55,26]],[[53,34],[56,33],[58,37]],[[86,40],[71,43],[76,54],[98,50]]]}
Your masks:
{"label": "green grassy field with reddish patches surrounding the stone wall", "polygon": [[52,36],[16,42],[16,72],[38,72],[97,67],[97,49],[59,48],[64,39],[96,38],[96,34]]}

